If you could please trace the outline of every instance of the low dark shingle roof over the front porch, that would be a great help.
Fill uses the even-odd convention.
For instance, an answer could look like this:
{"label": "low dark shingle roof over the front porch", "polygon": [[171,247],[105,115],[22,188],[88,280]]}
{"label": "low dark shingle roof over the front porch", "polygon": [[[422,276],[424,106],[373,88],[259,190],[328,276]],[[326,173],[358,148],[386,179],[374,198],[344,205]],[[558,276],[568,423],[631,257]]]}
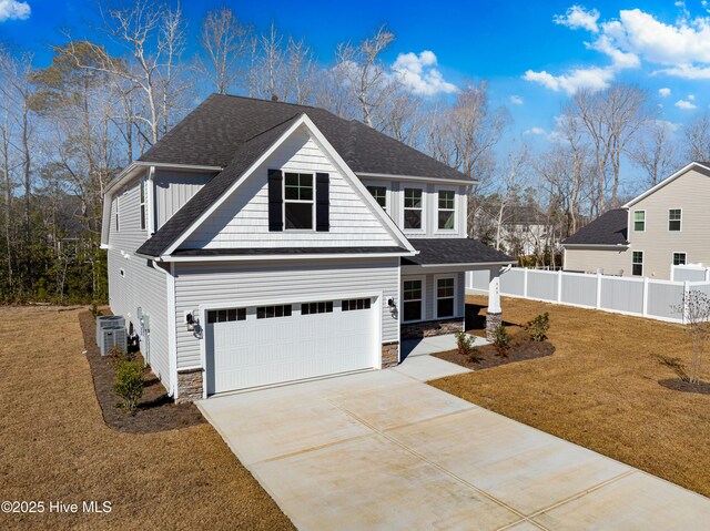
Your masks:
{"label": "low dark shingle roof over the front porch", "polygon": [[515,263],[515,258],[473,238],[412,238],[419,254],[402,258],[402,265]]}

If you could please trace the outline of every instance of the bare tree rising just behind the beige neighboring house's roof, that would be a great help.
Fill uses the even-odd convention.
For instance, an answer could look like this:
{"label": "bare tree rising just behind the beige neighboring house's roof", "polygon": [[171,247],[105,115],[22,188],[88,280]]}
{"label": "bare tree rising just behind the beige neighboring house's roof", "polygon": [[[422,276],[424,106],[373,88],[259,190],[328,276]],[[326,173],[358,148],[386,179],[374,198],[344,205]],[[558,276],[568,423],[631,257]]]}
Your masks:
{"label": "bare tree rising just behind the beige neighboring house's roof", "polygon": [[645,187],[656,186],[678,166],[671,134],[669,123],[650,121],[629,151],[631,160],[646,172]]}

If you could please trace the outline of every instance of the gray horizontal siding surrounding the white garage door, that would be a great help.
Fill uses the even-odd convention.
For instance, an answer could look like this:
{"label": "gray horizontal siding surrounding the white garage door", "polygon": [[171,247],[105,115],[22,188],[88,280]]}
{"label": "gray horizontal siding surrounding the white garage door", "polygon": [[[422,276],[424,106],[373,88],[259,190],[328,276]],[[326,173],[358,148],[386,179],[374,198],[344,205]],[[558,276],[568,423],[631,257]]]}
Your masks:
{"label": "gray horizontal siding surrounding the white garage door", "polygon": [[175,264],[178,368],[200,367],[201,339],[186,330],[185,313],[200,306],[261,300],[327,298],[328,294],[383,292],[382,340],[399,338],[399,323],[387,299],[399,299],[398,258],[312,262],[202,262]]}

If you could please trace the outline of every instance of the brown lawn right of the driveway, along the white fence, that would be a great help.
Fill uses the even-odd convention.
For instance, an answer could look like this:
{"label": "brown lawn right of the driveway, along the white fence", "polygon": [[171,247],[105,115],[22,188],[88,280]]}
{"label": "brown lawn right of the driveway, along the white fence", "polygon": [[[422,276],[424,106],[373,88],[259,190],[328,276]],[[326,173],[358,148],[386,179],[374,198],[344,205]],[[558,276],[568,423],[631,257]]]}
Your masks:
{"label": "brown lawn right of the driveway, along the white fence", "polygon": [[[467,300],[486,305],[484,297]],[[659,384],[677,377],[659,356],[690,362],[683,327],[509,298],[503,312],[516,324],[549,312],[555,354],[434,386],[710,496],[710,395]]]}

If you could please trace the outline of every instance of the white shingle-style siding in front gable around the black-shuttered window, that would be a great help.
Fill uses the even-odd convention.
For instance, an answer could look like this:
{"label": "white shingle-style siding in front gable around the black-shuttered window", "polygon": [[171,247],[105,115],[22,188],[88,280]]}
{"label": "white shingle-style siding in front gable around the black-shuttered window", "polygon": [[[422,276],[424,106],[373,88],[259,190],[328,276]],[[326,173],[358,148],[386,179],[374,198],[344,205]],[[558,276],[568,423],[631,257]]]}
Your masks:
{"label": "white shingle-style siding in front gable around the black-shuttered window", "polygon": [[[268,169],[329,175],[328,232],[268,231]],[[366,193],[366,192],[364,192]],[[315,204],[314,204],[315,211]],[[184,248],[392,246],[396,239],[376,206],[346,177],[305,131],[288,137],[182,245]]]}

